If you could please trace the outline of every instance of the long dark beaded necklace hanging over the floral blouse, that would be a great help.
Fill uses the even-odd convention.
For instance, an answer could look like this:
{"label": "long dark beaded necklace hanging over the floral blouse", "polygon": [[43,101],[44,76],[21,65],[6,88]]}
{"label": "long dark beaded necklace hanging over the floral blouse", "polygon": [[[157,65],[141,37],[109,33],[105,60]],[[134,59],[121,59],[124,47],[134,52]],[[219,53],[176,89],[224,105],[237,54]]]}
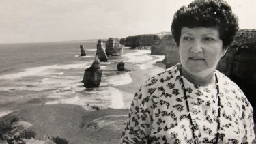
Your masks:
{"label": "long dark beaded necklace hanging over the floral blouse", "polygon": [[[218,99],[218,115],[217,115],[217,134],[216,134],[216,141],[214,143],[218,143],[218,139],[219,139],[219,133],[218,131],[220,130],[220,117],[221,117],[221,98],[220,98],[220,91],[219,91],[219,87],[218,87],[218,78],[217,78],[217,75],[216,73],[214,74],[215,76],[215,85],[216,85],[216,89],[217,89],[217,94],[216,94],[216,97]],[[193,136],[193,139],[195,139],[194,143],[197,143],[197,136],[195,136],[195,125],[193,124],[193,120],[192,120],[192,117],[190,115],[190,109],[189,109],[189,105],[188,105],[188,96],[186,95],[186,88],[184,86],[184,81],[182,79],[182,70],[180,68],[180,82],[182,83],[182,89],[184,91],[184,100],[186,100],[186,108],[187,108],[187,111],[188,111],[188,119],[190,121],[190,126],[191,126],[191,130],[192,130],[192,136]]]}

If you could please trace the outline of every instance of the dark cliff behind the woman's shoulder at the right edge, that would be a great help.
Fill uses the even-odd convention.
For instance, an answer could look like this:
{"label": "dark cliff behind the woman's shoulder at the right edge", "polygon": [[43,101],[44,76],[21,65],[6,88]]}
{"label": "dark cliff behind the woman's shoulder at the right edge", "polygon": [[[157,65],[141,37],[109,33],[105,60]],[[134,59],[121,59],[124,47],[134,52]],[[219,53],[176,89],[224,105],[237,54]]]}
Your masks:
{"label": "dark cliff behind the woman's shoulder at the right edge", "polygon": [[[253,102],[256,87],[256,30],[240,30],[217,69],[231,78]],[[255,113],[256,116],[256,113]]]}

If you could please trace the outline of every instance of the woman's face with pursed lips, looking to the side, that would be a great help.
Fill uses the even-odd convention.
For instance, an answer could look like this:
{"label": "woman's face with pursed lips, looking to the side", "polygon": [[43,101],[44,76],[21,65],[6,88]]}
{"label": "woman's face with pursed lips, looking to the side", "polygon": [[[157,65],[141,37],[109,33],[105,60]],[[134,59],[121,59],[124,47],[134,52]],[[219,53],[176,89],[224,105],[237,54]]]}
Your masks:
{"label": "woman's face with pursed lips, looking to the side", "polygon": [[218,30],[206,27],[182,27],[179,51],[182,68],[199,76],[212,74],[218,61],[227,52]]}

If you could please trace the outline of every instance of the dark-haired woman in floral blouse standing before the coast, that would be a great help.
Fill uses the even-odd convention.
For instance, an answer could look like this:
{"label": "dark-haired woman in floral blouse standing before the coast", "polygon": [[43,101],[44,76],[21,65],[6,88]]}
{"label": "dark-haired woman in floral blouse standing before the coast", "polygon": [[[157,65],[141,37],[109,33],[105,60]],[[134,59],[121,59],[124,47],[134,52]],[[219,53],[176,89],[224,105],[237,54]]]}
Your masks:
{"label": "dark-haired woman in floral blouse standing before the coast", "polygon": [[251,143],[253,109],[216,66],[238,31],[222,0],[195,0],[175,13],[180,60],[150,78],[130,106],[123,143]]}

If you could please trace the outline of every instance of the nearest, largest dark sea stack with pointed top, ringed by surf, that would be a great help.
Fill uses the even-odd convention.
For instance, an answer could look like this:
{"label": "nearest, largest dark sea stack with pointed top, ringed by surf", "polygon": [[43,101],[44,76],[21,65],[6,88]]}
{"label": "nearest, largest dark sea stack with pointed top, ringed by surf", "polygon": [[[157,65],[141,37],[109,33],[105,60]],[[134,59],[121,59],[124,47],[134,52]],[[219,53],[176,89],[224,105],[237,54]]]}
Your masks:
{"label": "nearest, largest dark sea stack with pointed top, ringed by surf", "polygon": [[101,82],[102,70],[100,70],[100,60],[97,55],[91,67],[85,70],[83,75],[83,83],[86,88],[99,87]]}

